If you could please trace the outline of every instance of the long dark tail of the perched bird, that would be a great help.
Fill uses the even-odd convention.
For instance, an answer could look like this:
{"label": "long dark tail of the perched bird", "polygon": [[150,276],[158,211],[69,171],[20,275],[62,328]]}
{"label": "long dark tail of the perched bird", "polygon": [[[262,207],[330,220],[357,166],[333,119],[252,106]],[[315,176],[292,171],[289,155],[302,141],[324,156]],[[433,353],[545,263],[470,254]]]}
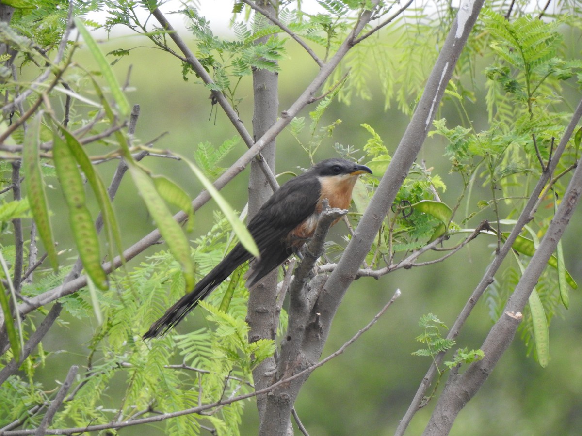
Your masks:
{"label": "long dark tail of the perched bird", "polygon": [[200,300],[206,298],[214,288],[230,276],[232,271],[251,258],[253,256],[242,245],[237,244],[221,263],[196,284],[191,292],[180,298],[175,305],[166,310],[164,316],[151,324],[150,330],[145,332],[143,338],[156,337],[175,327]]}

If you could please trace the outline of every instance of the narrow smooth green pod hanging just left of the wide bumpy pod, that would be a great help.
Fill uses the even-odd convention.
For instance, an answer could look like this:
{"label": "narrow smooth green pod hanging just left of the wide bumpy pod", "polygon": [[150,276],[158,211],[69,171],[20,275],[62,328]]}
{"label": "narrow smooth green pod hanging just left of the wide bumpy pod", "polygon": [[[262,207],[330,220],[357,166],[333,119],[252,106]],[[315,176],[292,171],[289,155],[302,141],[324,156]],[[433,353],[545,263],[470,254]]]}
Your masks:
{"label": "narrow smooth green pod hanging just left of the wide bumpy pod", "polygon": [[38,234],[44,249],[47,251],[48,260],[56,271],[59,268],[59,261],[56,257],[55,242],[52,238],[51,220],[49,219],[47,208],[47,194],[44,190],[38,155],[41,119],[42,112],[39,112],[29,123],[24,137],[23,161],[24,170],[26,171],[27,196],[29,197],[31,211],[37,224]]}

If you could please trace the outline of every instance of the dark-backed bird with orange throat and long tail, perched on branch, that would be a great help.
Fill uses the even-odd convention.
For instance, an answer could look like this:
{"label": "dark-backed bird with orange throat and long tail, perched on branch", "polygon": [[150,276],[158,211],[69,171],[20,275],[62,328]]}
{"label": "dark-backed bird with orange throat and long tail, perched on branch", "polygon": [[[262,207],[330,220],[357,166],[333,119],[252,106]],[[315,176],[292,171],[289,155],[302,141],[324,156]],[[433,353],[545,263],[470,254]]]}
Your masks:
{"label": "dark-backed bird with orange throat and long tail, perched on branch", "polygon": [[253,288],[293,253],[299,252],[311,238],[324,199],[327,199],[331,208],[349,208],[356,180],[364,173],[372,174],[372,170],[346,159],[332,158],[316,163],[303,174],[283,184],[247,225],[260,257],[254,258],[240,242],[236,244],[210,273],[198,281],[193,290],[151,324],[143,338],[153,338],[171,330],[199,301],[207,297],[247,260],[251,264],[246,285],[249,289]]}

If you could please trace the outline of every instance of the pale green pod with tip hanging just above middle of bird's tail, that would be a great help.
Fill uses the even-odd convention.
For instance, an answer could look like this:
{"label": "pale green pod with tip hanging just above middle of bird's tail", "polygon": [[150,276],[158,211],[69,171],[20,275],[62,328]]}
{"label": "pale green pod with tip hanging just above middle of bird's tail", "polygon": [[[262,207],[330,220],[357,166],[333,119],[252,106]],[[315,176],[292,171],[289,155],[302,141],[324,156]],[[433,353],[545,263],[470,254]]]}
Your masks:
{"label": "pale green pod with tip hanging just above middle of bird's tail", "polygon": [[166,206],[164,200],[155,189],[155,184],[151,177],[133,160],[127,160],[126,162],[130,174],[132,174],[133,183],[144,200],[145,207],[158,226],[159,233],[168,244],[170,252],[182,266],[186,287],[188,289],[193,288],[196,284],[196,278],[194,277],[194,265],[190,258],[190,245],[186,235],[184,235],[176,220],[173,219],[168,206]]}

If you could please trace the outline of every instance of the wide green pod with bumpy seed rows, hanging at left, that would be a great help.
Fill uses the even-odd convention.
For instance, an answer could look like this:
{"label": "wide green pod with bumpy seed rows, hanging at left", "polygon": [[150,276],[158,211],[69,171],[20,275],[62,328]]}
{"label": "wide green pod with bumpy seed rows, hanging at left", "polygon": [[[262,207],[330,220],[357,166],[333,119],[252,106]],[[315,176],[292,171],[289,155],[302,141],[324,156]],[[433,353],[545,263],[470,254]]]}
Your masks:
{"label": "wide green pod with bumpy seed rows, hanging at left", "polygon": [[69,208],[69,221],[79,257],[87,275],[95,286],[107,290],[107,274],[101,266],[101,253],[97,230],[86,205],[85,187],[73,153],[68,144],[56,133],[52,149],[56,174],[61,181],[65,202]]}

